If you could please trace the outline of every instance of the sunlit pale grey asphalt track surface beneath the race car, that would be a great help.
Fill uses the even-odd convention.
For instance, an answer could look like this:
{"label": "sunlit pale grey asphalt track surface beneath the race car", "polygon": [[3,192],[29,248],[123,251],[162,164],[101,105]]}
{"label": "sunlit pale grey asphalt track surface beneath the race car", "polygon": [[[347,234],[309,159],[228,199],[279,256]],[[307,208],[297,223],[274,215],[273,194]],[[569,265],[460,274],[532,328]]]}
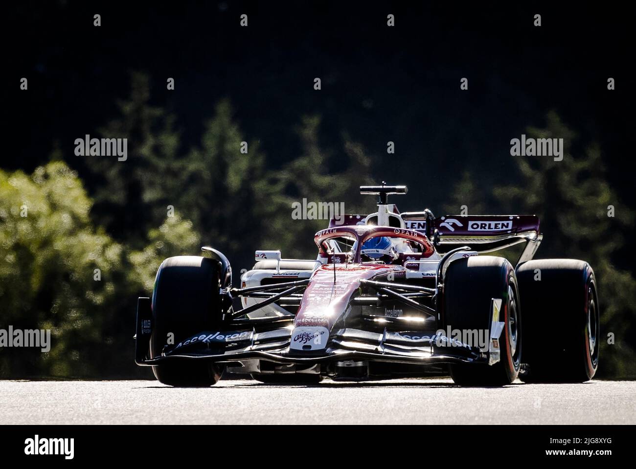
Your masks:
{"label": "sunlit pale grey asphalt track surface beneath the race car", "polygon": [[0,381],[0,424],[635,424],[636,382],[460,388],[448,378],[211,388]]}

